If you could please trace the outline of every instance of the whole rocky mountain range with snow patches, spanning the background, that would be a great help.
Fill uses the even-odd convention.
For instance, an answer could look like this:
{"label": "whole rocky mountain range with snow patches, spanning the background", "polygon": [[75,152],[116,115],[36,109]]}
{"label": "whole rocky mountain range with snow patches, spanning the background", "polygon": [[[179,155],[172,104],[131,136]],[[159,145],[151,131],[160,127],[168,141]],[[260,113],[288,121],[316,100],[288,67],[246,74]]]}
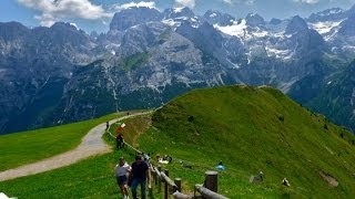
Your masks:
{"label": "whole rocky mountain range with snow patches, spanning the background", "polygon": [[129,8],[100,35],[70,23],[0,23],[0,132],[160,106],[194,87],[272,84],[287,92],[308,75],[331,73],[325,57],[352,57],[351,13],[268,22],[256,13]]}

